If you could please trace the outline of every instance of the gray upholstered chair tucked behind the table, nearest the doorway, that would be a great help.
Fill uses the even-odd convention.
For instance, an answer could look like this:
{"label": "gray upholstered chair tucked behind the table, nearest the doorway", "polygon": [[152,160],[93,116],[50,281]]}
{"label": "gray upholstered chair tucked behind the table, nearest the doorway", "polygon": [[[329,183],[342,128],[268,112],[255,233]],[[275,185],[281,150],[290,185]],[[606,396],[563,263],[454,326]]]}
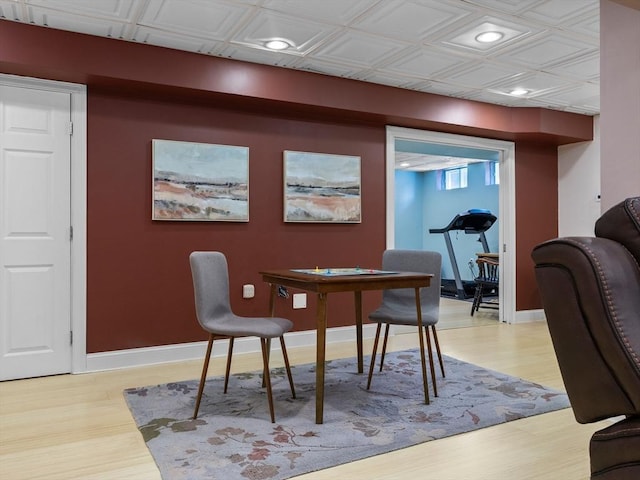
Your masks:
{"label": "gray upholstered chair tucked behind the table, nearest the doorway", "polygon": [[[436,323],[440,313],[440,269],[442,267],[442,256],[438,252],[425,250],[385,250],[382,255],[382,269],[390,271],[431,273],[431,286],[420,289],[420,308],[422,312],[422,323],[418,325],[416,311],[415,290],[412,288],[399,288],[384,290],[382,293],[382,304],[369,314],[369,320],[377,322],[376,336],[373,342],[373,352],[371,354],[371,365],[369,366],[369,378],[367,380],[367,390],[371,387],[373,368],[376,360],[378,341],[382,325],[386,326],[382,352],[380,358],[380,371],[384,364],[384,356],[387,350],[387,339],[389,336],[389,325],[414,325],[418,328],[422,359],[422,382],[424,386],[424,400],[429,403],[429,390],[427,387],[427,376],[424,358],[424,337],[427,340],[427,350],[429,352],[429,366],[431,369],[431,380],[433,382],[434,395],[438,396],[436,385],[435,367],[433,364],[433,350],[431,347],[431,335],[429,327],[433,333],[433,341],[440,361],[440,370],[444,377],[444,364],[440,353],[440,344],[436,333]],[[424,337],[423,337],[424,331]]]}

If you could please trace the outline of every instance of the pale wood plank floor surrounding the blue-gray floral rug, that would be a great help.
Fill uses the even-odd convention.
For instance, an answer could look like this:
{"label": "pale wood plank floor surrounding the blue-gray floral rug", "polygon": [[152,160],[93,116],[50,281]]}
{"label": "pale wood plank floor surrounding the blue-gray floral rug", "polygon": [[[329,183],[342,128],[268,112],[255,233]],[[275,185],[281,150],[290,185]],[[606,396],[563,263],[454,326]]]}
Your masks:
{"label": "pale wood plank floor surrounding the blue-gray floral rug", "polygon": [[[468,303],[464,306],[470,309]],[[462,311],[462,306],[457,307]],[[443,311],[439,328],[443,353],[563,388],[544,323],[498,324],[479,315],[475,321],[482,324],[457,328],[464,326],[462,319],[456,323],[451,313],[451,322],[447,322],[446,316]],[[468,316],[468,312],[459,316]],[[417,335],[403,334],[390,341],[390,348],[416,343]],[[315,361],[312,348],[290,349],[289,354],[294,363]],[[354,354],[351,344],[331,345],[327,351],[330,358]],[[259,369],[261,364],[258,355],[239,355],[234,362],[236,371]],[[222,363],[212,362],[210,374],[220,374]],[[0,479],[159,479],[122,391],[198,378],[200,368],[200,361],[189,361],[0,383]],[[589,438],[604,426],[604,422],[579,425],[571,410],[565,409],[298,478],[587,479]]]}

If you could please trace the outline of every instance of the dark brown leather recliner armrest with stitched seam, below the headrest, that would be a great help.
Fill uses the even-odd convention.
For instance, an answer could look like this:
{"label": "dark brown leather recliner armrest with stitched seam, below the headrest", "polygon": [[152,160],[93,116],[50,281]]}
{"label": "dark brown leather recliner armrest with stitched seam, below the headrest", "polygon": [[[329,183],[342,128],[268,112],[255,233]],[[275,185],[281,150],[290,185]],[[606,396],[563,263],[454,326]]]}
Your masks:
{"label": "dark brown leather recliner armrest with stitched seam, below the headrest", "polygon": [[532,258],[576,420],[638,415],[638,263],[623,245],[589,237],[545,242]]}

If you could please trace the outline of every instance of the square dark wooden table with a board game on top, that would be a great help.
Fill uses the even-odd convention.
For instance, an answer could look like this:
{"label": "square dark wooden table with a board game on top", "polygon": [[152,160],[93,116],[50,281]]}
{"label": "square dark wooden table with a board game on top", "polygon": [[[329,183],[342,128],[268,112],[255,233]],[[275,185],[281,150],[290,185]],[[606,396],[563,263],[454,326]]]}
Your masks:
{"label": "square dark wooden table with a board game on top", "polygon": [[[353,292],[355,303],[356,345],[358,352],[358,373],[362,373],[362,292],[366,290],[386,290],[413,288],[416,298],[418,321],[422,322],[420,308],[420,288],[431,284],[433,275],[416,272],[389,272],[373,269],[288,269],[265,270],[259,272],[262,279],[271,286],[269,309],[275,316],[275,300],[279,286],[303,290],[317,295],[316,306],[316,423],[324,419],[324,378],[327,332],[327,296],[335,292]],[[422,339],[422,335],[420,336]],[[426,369],[424,348],[422,348],[422,368]],[[426,378],[426,375],[423,375]],[[425,388],[426,390],[426,388]]]}

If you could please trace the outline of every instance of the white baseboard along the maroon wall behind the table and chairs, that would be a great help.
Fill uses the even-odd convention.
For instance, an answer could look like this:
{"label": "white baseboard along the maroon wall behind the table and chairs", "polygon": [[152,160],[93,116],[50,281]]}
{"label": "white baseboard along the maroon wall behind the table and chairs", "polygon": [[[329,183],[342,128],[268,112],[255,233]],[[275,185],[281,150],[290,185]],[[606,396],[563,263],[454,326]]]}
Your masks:
{"label": "white baseboard along the maroon wall behind the table and chairs", "polygon": [[[363,325],[363,338],[373,338],[375,324]],[[354,342],[355,326],[336,327],[327,330],[327,344]],[[291,332],[285,335],[287,349],[295,347],[315,346],[316,331]],[[227,354],[228,341],[215,342],[213,356],[223,357]],[[206,352],[207,342],[181,343],[159,347],[132,348],[112,352],[90,353],[87,355],[86,370],[73,373],[88,373],[119,368],[141,367],[158,363],[181,362],[185,360],[201,360]],[[279,349],[280,342],[273,342],[273,349]],[[260,351],[257,338],[239,338],[234,344],[234,353],[255,353]]]}

